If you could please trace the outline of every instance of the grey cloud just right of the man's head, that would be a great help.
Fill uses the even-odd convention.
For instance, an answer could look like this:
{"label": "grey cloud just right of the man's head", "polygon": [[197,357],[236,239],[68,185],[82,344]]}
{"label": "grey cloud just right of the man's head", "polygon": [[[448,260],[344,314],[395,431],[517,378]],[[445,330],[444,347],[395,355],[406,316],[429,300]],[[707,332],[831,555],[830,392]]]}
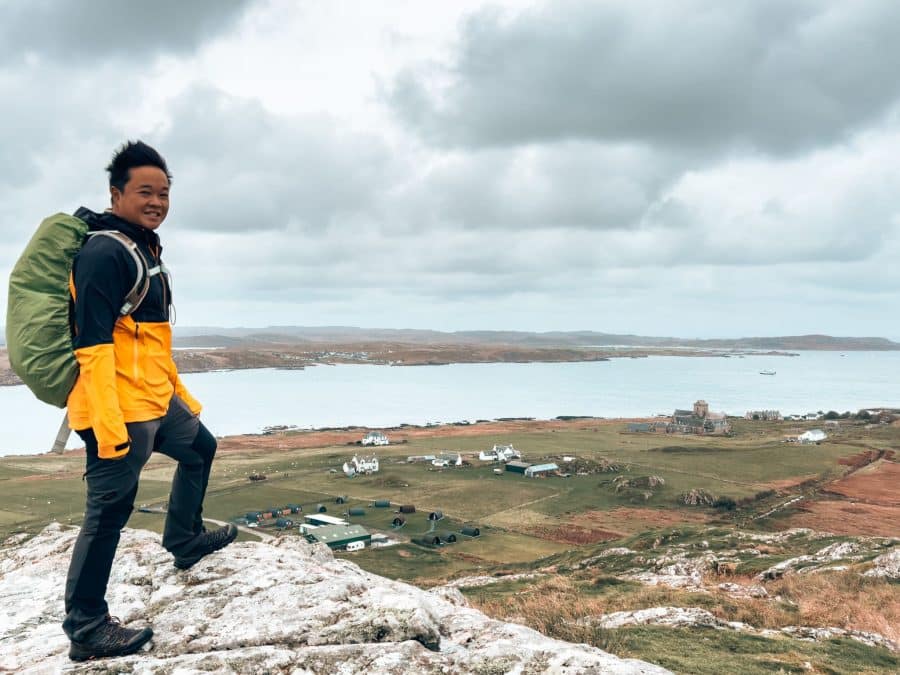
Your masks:
{"label": "grey cloud just right of the man's head", "polygon": [[191,229],[327,229],[372,208],[400,170],[375,135],[210,87],[190,88],[169,114],[158,143],[175,174],[172,215]]}

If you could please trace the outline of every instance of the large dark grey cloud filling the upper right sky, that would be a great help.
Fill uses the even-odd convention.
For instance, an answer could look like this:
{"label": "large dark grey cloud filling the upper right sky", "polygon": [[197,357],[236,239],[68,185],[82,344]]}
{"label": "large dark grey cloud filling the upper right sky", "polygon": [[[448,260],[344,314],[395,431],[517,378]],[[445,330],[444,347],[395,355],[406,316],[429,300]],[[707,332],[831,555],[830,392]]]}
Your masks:
{"label": "large dark grey cloud filling the upper right sky", "polygon": [[827,144],[900,96],[894,2],[548,3],[462,24],[443,70],[389,101],[432,142],[566,138],[782,153]]}

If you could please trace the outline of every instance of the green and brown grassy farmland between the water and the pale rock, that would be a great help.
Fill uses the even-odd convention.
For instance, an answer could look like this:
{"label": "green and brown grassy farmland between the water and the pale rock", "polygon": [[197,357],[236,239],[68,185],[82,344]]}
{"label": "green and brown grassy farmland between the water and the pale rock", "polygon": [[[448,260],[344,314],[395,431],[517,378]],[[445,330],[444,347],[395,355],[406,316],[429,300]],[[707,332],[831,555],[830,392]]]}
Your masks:
{"label": "green and brown grassy farmland between the water and the pale rock", "polygon": [[[356,453],[372,454],[371,448],[356,444],[365,430],[240,436],[220,440],[204,513],[234,520],[248,511],[298,503],[304,513],[321,505],[329,515],[345,517],[350,509],[362,508],[364,515],[349,520],[386,535],[392,545],[336,555],[422,587],[478,575],[537,573],[533,582],[463,585],[463,591],[489,614],[620,655],[655,660],[676,671],[717,672],[733,653],[743,659],[742,672],[794,672],[807,662],[814,665],[813,672],[846,672],[851,663],[860,672],[890,672],[900,667],[896,655],[846,639],[805,643],[712,630],[701,635],[697,629],[654,626],[574,627],[587,615],[674,605],[705,607],[723,620],[759,628],[801,622],[900,639],[893,628],[900,623],[900,587],[884,580],[860,584],[855,573],[774,581],[772,597],[784,600],[740,602],[717,591],[714,578],[699,593],[646,587],[621,577],[649,552],[661,555],[670,550],[666,547],[675,547],[671,551],[731,556],[735,579],[750,584],[753,575],[771,565],[839,543],[839,535],[900,537],[895,452],[900,427],[844,423],[820,445],[784,442],[786,435],[808,426],[737,420],[728,438],[629,433],[624,421],[599,419],[403,427],[387,430],[392,444],[375,450],[381,470],[352,479],[340,467]],[[528,462],[556,462],[566,477],[495,473],[502,465],[477,459],[480,450],[495,443],[514,445]],[[460,453],[464,466],[438,469],[407,459],[440,452]],[[77,524],[83,461],[77,451],[0,459],[0,536],[34,532],[54,519]],[[167,458],[154,457],[143,473],[138,504],[163,505],[172,471]],[[266,478],[251,481],[251,474]],[[691,491],[718,498],[719,506],[686,505],[683,496]],[[338,503],[338,497],[345,503]],[[390,507],[375,507],[376,500],[388,500]],[[395,528],[392,521],[400,505],[416,510],[404,514],[405,524]],[[444,516],[437,523],[428,518],[434,511]],[[130,525],[158,532],[163,517],[136,512]],[[462,535],[466,525],[480,528],[481,536]],[[735,534],[763,537],[795,526],[835,536],[759,544],[745,554],[750,545]],[[457,541],[439,547],[414,542],[432,528],[454,532]],[[298,536],[274,528],[265,532]],[[240,537],[254,535],[244,530]],[[610,547],[630,547],[631,554],[604,558],[602,568],[593,563],[585,567]],[[859,564],[874,555],[863,556]],[[815,598],[834,602],[817,603]]]}

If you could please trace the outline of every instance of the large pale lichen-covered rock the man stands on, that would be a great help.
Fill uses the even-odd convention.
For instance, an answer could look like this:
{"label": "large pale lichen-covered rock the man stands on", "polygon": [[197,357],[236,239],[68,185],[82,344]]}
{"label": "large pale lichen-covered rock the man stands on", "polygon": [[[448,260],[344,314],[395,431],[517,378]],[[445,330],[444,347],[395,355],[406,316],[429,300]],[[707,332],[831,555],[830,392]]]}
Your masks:
{"label": "large pale lichen-covered rock the man stands on", "polygon": [[492,620],[458,590],[364,572],[297,537],[232,544],[178,571],[158,537],[125,530],[108,600],[149,621],[151,650],[70,664],[60,629],[77,530],[51,525],[0,549],[0,671],[19,673],[665,673]]}

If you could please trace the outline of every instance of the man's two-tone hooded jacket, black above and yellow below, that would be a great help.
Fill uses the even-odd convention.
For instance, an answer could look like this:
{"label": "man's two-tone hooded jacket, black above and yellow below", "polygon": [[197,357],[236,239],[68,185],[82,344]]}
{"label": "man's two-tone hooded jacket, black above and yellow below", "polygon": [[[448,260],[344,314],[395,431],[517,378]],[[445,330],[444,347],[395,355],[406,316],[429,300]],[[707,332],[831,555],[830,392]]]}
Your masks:
{"label": "man's two-tone hooded jacket, black above and yellow below", "polygon": [[[75,215],[91,230],[122,232],[137,244],[150,267],[161,264],[155,232],[112,213],[81,208]],[[134,312],[119,313],[137,274],[125,247],[109,237],[90,237],[72,268],[73,343],[80,371],[69,394],[69,426],[92,428],[104,459],[127,454],[125,423],[164,416],[173,394],[195,415],[200,413],[200,404],[182,385],[172,360],[172,295],[166,275],[151,277],[150,289]]]}

